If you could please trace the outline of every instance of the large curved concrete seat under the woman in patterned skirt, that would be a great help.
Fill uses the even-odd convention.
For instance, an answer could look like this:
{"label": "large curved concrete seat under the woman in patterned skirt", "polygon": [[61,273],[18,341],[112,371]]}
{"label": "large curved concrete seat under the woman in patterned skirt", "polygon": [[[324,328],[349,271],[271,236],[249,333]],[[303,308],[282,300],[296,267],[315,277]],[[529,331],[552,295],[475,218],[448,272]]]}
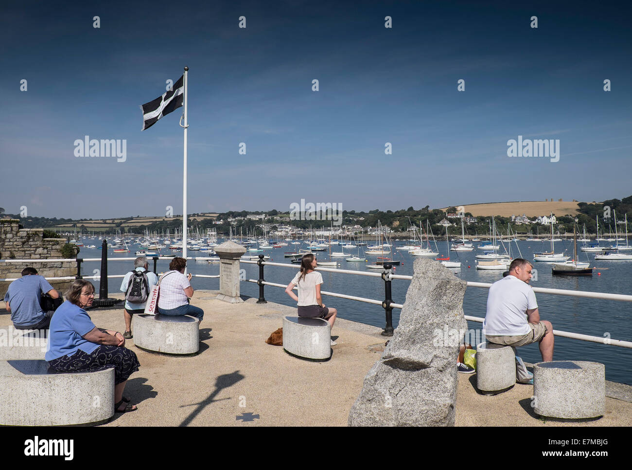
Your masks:
{"label": "large curved concrete seat under the woman in patterned skirt", "polygon": [[114,368],[58,373],[47,361],[0,361],[0,424],[99,424],[114,415]]}

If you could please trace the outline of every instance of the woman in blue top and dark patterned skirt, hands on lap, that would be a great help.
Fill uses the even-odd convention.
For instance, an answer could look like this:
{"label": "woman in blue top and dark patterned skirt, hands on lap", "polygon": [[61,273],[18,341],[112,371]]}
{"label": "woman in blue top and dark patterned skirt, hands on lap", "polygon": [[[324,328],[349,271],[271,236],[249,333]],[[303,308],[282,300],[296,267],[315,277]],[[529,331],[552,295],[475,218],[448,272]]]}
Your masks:
{"label": "woman in blue top and dark patterned skirt, hands on lap", "polygon": [[138,371],[136,354],[126,349],[125,338],[118,331],[97,328],[84,310],[92,306],[94,285],[90,281],[73,281],[51,319],[50,349],[46,361],[59,372],[94,372],[114,368],[114,410],[136,411],[130,399],[123,397],[129,376]]}

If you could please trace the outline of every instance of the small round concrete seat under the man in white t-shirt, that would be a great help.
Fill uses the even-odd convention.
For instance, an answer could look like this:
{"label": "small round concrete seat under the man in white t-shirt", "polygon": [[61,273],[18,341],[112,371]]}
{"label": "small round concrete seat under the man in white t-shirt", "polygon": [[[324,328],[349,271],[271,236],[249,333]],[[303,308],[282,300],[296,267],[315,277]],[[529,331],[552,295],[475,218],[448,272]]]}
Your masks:
{"label": "small round concrete seat under the man in white t-shirt", "polygon": [[516,353],[511,346],[490,342],[476,348],[477,388],[485,394],[504,392],[516,383]]}

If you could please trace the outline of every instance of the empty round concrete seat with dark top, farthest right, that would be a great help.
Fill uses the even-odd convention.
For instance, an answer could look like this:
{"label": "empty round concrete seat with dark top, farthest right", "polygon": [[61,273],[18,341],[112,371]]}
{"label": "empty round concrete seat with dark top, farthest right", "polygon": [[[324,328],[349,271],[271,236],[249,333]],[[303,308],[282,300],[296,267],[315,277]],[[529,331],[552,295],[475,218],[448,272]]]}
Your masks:
{"label": "empty round concrete seat with dark top, farthest right", "polygon": [[533,366],[533,397],[540,416],[582,419],[605,413],[605,366],[551,361]]}

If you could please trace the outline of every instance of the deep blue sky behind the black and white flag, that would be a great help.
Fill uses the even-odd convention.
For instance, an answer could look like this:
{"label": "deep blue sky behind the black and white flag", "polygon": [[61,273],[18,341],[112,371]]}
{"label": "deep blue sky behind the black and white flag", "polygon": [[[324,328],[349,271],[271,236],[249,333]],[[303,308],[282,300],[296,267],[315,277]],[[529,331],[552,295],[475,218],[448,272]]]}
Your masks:
{"label": "deep blue sky behind the black and white flag", "polygon": [[[189,213],[287,211],[301,199],[395,210],[626,197],[630,9],[13,4],[0,17],[0,205],[72,218],[181,213],[181,109],[141,132],[138,106],[185,65]],[[84,135],[126,139],[126,161],[76,158]],[[507,157],[518,135],[559,139],[559,161]]]}

